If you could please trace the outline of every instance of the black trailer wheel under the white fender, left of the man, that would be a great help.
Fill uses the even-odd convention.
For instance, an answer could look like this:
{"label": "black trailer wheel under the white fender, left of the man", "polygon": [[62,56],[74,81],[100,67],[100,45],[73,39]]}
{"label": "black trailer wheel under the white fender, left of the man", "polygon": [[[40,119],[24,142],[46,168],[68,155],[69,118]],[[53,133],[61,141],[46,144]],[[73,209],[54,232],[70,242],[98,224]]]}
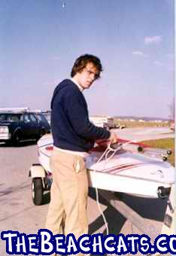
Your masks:
{"label": "black trailer wheel under the white fender, left of the man", "polygon": [[32,178],[32,200],[35,206],[41,206],[43,201],[43,183],[41,178]]}

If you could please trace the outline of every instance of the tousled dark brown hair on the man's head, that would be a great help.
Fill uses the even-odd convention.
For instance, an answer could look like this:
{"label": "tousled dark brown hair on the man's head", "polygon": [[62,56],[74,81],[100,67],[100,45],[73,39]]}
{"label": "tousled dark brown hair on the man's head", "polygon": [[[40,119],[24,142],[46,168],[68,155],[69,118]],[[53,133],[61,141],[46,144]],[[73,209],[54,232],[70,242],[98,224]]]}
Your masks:
{"label": "tousled dark brown hair on the man's head", "polygon": [[103,71],[102,63],[100,59],[97,56],[94,56],[92,54],[87,54],[87,53],[79,56],[75,60],[74,66],[71,69],[71,78],[73,78],[74,75],[77,74],[77,72],[81,72],[86,67],[86,64],[90,62],[93,63],[94,66],[96,66],[96,69],[97,69],[96,79],[100,78],[100,73]]}

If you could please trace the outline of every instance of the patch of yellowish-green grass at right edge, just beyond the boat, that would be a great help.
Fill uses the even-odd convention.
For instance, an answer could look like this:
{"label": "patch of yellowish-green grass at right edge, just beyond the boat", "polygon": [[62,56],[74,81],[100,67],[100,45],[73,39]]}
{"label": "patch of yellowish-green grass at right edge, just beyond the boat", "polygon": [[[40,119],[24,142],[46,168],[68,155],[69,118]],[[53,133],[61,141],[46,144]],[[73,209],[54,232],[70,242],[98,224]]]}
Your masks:
{"label": "patch of yellowish-green grass at right edge, just beyond the boat", "polygon": [[174,138],[149,140],[143,143],[152,148],[171,149],[172,154],[168,157],[168,162],[174,166]]}

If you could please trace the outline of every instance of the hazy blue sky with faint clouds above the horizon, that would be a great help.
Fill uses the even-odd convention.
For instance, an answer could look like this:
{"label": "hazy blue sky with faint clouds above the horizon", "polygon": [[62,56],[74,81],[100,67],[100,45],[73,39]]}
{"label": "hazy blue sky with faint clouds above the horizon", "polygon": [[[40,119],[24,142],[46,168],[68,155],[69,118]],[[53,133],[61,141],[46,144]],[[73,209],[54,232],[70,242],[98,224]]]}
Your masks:
{"label": "hazy blue sky with faint clouds above the horizon", "polygon": [[90,114],[168,117],[174,97],[174,0],[1,0],[0,108],[50,109],[74,59],[104,72]]}

